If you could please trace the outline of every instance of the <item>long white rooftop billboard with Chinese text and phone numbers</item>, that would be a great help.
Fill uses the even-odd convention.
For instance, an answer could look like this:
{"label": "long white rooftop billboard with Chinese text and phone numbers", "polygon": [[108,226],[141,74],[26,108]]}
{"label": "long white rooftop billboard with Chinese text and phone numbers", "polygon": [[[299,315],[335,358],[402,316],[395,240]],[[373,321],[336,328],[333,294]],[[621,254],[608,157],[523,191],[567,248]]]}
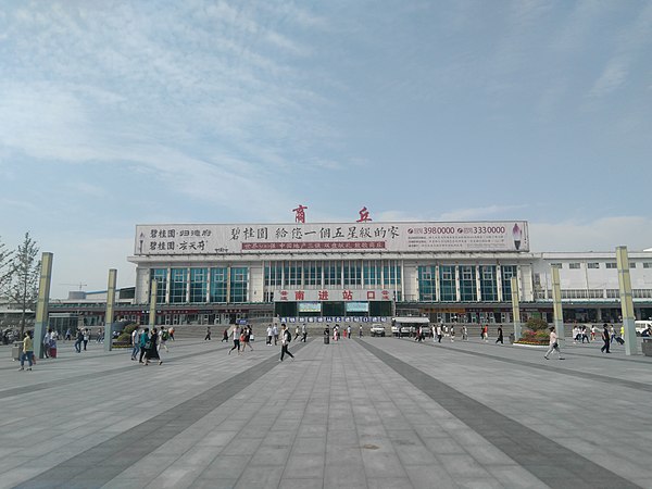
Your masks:
{"label": "long white rooftop billboard with Chinese text and phone numbers", "polygon": [[526,221],[466,223],[156,224],[136,255],[529,251]]}

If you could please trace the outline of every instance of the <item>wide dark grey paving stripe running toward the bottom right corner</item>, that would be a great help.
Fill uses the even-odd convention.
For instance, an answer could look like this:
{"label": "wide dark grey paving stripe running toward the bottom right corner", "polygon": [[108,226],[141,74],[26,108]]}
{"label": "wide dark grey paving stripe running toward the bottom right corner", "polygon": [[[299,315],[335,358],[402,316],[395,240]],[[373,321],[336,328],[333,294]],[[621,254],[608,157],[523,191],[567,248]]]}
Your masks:
{"label": "wide dark grey paving stripe running toward the bottom right corner", "polygon": [[[475,430],[524,469],[551,487],[640,488],[579,453],[464,394],[425,372],[366,341],[360,343],[435,402],[447,399],[442,409]],[[481,415],[479,414],[481,413]],[[532,459],[532,451],[540,456]],[[564,477],[561,478],[561,475]],[[590,478],[587,478],[590,476]]]}

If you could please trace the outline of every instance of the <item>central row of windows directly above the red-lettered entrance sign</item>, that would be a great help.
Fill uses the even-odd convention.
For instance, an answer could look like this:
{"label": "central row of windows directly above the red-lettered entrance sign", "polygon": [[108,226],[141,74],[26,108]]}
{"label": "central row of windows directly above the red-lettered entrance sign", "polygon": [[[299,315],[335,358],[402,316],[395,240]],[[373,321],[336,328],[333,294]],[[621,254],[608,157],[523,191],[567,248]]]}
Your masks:
{"label": "central row of windows directly above the red-lettered entrance sign", "polygon": [[347,288],[394,288],[401,285],[401,264],[393,260],[338,260],[306,262],[271,262],[265,264],[265,286],[319,289],[329,286]]}

